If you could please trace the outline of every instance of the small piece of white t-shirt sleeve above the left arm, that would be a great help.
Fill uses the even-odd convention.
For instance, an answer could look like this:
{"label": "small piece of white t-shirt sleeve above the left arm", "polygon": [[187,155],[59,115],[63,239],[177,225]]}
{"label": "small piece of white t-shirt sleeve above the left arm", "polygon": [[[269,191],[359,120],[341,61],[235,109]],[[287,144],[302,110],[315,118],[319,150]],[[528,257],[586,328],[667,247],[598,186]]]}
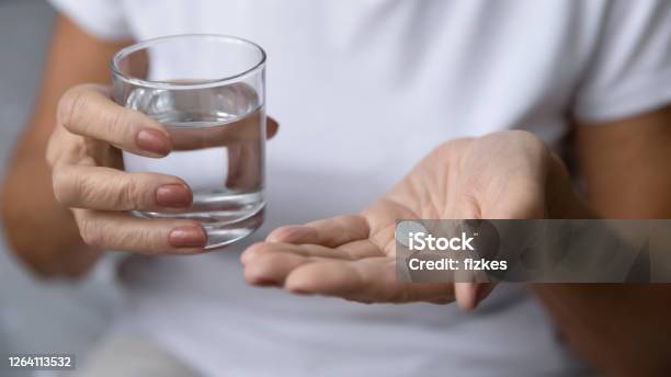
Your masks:
{"label": "small piece of white t-shirt sleeve above the left arm", "polygon": [[132,37],[121,0],[49,0],[64,15],[87,33],[101,39]]}

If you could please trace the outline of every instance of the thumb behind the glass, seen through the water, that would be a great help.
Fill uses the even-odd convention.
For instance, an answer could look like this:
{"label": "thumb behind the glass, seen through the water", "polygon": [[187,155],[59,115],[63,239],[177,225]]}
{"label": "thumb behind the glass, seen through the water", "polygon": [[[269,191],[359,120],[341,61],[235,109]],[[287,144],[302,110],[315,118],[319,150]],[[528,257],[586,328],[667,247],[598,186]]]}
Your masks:
{"label": "thumb behind the glass, seen through the water", "polygon": [[220,127],[171,127],[168,133],[172,138],[174,150],[263,142],[264,135],[268,139],[272,138],[277,134],[280,125],[275,119],[266,118],[265,134],[263,134],[264,129],[259,127],[261,117],[262,114],[255,112]]}

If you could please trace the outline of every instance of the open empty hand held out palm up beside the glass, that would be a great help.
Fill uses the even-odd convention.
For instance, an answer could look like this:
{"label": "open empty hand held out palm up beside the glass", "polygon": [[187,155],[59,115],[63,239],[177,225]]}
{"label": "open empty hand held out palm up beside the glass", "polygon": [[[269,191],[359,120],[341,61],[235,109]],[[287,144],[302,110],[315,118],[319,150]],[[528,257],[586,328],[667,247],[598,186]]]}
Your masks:
{"label": "open empty hand held out palm up beside the glass", "polygon": [[360,215],[274,230],[242,254],[255,285],[361,302],[452,302],[473,308],[491,286],[408,283],[396,276],[397,219],[546,218],[566,205],[568,174],[525,132],[458,139],[436,148]]}

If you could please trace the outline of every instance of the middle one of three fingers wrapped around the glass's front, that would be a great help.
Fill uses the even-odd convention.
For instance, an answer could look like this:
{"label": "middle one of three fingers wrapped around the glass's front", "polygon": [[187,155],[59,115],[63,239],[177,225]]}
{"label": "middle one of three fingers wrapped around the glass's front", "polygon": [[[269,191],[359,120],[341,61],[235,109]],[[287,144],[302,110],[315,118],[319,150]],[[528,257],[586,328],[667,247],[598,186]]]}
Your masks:
{"label": "middle one of three fingers wrapped around the glass's front", "polygon": [[187,208],[193,201],[184,181],[158,173],[62,164],[54,169],[53,183],[56,199],[67,207],[169,212]]}

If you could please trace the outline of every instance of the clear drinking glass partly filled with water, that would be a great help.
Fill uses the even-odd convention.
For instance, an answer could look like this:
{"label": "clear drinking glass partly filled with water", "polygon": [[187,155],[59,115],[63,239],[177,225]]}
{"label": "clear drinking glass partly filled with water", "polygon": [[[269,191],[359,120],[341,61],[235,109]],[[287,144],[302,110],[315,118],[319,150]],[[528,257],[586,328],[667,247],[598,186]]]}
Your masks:
{"label": "clear drinking glass partly filled with water", "polygon": [[136,212],[146,218],[200,221],[206,249],[232,243],[259,228],[265,206],[265,53],[223,35],[189,34],[141,42],[112,61],[114,99],[166,126],[166,158],[123,152],[129,172],[184,180],[185,210]]}

